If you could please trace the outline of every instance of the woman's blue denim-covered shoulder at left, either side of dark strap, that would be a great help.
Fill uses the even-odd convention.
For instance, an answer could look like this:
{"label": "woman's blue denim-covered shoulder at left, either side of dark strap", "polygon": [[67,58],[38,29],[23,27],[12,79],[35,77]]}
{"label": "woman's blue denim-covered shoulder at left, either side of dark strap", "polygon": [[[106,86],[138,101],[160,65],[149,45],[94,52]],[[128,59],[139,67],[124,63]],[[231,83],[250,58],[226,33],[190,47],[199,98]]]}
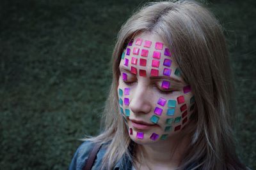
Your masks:
{"label": "woman's blue denim-covered shoulder at left, either side of dark strap", "polygon": [[[93,164],[92,169],[98,169],[101,163],[102,158],[104,157],[104,154],[106,152],[106,146],[108,143],[104,143],[99,152],[97,153],[97,156],[95,158],[95,162]],[[69,170],[81,170],[83,169],[84,165],[86,164],[89,153],[92,151],[93,146],[95,146],[95,143],[92,141],[84,141],[76,150],[76,153],[74,153],[72,162],[70,163]]]}

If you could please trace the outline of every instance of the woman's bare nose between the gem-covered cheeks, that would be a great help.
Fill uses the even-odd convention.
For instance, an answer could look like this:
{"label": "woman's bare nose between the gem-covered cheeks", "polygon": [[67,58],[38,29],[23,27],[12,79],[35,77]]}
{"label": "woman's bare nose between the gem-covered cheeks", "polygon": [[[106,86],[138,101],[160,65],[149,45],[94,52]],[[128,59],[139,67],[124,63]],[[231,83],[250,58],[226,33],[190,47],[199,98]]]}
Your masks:
{"label": "woman's bare nose between the gem-covered cheeks", "polygon": [[130,101],[130,109],[132,113],[150,113],[152,106],[150,104],[150,90],[147,86],[138,83],[133,89]]}

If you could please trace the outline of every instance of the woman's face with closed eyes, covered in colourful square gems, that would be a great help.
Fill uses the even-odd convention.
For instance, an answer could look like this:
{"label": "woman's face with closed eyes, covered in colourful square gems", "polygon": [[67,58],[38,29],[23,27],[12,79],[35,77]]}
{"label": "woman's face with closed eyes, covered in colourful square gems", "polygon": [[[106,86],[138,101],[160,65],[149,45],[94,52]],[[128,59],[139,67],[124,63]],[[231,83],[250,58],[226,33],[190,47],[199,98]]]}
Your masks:
{"label": "woman's face with closed eyes, covered in colourful square gems", "polygon": [[194,97],[180,69],[156,34],[131,41],[120,62],[118,97],[129,135],[136,143],[166,140],[182,131]]}

